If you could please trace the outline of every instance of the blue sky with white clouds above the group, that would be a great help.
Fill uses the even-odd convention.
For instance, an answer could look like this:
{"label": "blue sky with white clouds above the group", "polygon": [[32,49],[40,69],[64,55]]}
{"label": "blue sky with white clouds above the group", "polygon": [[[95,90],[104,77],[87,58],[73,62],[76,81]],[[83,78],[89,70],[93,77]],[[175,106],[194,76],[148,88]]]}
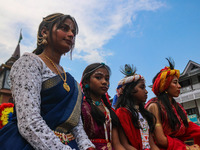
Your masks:
{"label": "blue sky with white clouds above the group", "polygon": [[61,65],[80,82],[85,67],[104,62],[112,71],[109,95],[124,75],[120,67],[133,64],[149,85],[175,61],[182,73],[192,60],[200,63],[199,0],[0,0],[0,64],[13,54],[22,29],[21,55],[36,48],[42,18],[56,12],[70,14],[79,26],[72,54]]}

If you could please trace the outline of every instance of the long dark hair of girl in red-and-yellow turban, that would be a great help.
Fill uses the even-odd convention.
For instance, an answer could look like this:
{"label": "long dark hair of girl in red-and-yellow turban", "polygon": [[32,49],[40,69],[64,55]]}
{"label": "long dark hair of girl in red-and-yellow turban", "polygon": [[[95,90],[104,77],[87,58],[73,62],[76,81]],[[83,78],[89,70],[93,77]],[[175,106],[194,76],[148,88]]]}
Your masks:
{"label": "long dark hair of girl in red-and-yellow turban", "polygon": [[[171,65],[170,65],[170,68],[171,68]],[[172,68],[174,68],[174,66]],[[156,76],[153,78],[153,81],[152,81],[153,84],[159,74],[160,74],[160,72],[158,72],[156,74]],[[175,131],[176,129],[178,129],[180,127],[181,123],[179,122],[176,114],[174,113],[174,111],[171,107],[171,103],[170,103],[167,93],[162,92],[157,97],[158,97],[158,100],[163,104],[163,106],[167,112],[167,116],[168,116],[167,118],[169,120],[169,125],[170,125],[171,129],[173,131]],[[177,102],[174,100],[174,98],[172,98],[172,105],[174,105],[178,115],[183,120],[183,124],[185,125],[185,127],[188,127],[189,125],[188,125],[187,117],[186,117],[185,113],[183,112],[183,110],[180,108],[180,106],[177,104]],[[162,111],[161,111],[161,106],[159,103],[158,103],[158,108],[159,108],[159,113],[161,114]],[[162,118],[162,116],[164,117],[164,115],[161,115],[161,121],[163,122],[167,118]],[[178,125],[178,127],[177,127],[177,125]]]}

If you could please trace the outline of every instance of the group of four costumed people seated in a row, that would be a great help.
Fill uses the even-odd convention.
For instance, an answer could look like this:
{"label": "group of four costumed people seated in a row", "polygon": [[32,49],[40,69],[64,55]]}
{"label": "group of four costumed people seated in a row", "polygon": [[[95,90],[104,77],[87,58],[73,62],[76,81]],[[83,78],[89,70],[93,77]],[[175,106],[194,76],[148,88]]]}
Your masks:
{"label": "group of four costumed people seated in a row", "polygon": [[[111,107],[109,66],[88,65],[78,83],[60,65],[61,56],[71,56],[77,34],[70,15],[43,18],[37,48],[11,68],[14,113],[0,129],[0,149],[200,150],[200,126],[174,99],[181,86],[172,59],[154,77],[156,97],[147,103],[145,78],[125,64]],[[194,144],[187,145],[191,138]]]}

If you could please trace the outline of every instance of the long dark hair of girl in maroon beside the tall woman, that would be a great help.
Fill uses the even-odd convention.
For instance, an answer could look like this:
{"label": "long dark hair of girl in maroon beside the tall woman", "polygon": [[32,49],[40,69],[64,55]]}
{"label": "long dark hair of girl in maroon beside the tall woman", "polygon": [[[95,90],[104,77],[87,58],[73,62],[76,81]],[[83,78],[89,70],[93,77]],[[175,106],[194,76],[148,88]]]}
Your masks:
{"label": "long dark hair of girl in maroon beside the tall woman", "polygon": [[[92,117],[97,122],[97,124],[102,125],[105,122],[105,115],[98,107],[96,107],[93,104],[92,99],[90,97],[90,88],[85,88],[85,82],[89,81],[91,75],[95,72],[95,70],[97,70],[99,68],[106,68],[108,70],[109,74],[111,73],[110,68],[107,65],[105,65],[104,63],[90,64],[85,68],[85,70],[83,72],[81,84],[82,84],[83,93],[85,95],[85,100],[91,106]],[[110,116],[112,118],[113,126],[118,126],[118,122],[119,122],[118,117],[115,114],[115,112],[112,110],[111,105],[109,104],[108,99],[106,98],[106,95],[102,95],[102,100],[103,100],[105,106],[110,111]]]}

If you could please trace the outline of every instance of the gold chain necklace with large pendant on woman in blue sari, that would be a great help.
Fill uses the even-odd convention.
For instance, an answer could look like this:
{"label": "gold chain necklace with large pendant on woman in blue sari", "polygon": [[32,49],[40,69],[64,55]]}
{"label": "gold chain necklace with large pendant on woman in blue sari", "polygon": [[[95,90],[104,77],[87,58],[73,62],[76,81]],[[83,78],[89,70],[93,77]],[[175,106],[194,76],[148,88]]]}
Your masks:
{"label": "gold chain necklace with large pendant on woman in blue sari", "polygon": [[64,82],[64,83],[63,83],[63,88],[64,88],[67,92],[69,92],[69,91],[70,91],[70,87],[69,87],[69,85],[67,84],[67,74],[66,74],[66,72],[64,71],[64,69],[61,67],[62,70],[63,70],[63,73],[64,73],[64,75],[65,75],[65,79],[62,77],[60,71],[58,70],[58,68],[56,67],[56,65],[54,64],[54,62],[53,62],[47,55],[44,54],[44,56],[51,62],[51,64],[53,65],[53,67],[56,69],[58,75],[59,75],[60,78],[63,80],[63,82]]}

